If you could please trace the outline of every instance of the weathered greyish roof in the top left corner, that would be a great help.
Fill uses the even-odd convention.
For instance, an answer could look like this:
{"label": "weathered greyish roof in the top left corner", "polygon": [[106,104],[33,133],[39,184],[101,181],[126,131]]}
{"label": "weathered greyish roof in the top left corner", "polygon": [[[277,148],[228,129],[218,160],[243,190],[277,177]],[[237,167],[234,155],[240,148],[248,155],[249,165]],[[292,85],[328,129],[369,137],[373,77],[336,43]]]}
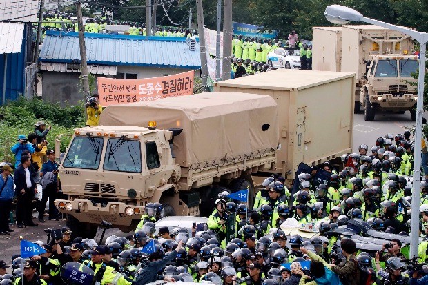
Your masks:
{"label": "weathered greyish roof in the top left corner", "polygon": [[0,0],[0,21],[36,22],[39,0]]}

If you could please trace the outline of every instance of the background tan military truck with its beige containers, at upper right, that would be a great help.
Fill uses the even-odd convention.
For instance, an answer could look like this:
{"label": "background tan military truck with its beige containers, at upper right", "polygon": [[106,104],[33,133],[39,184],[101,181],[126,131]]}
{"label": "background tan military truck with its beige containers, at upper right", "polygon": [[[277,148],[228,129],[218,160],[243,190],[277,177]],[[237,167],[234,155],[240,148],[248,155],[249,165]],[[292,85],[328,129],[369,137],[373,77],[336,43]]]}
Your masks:
{"label": "background tan military truck with its beige containers, at upper right", "polygon": [[354,72],[354,113],[364,108],[364,120],[377,110],[404,113],[416,120],[418,57],[414,39],[373,25],[313,27],[313,70]]}

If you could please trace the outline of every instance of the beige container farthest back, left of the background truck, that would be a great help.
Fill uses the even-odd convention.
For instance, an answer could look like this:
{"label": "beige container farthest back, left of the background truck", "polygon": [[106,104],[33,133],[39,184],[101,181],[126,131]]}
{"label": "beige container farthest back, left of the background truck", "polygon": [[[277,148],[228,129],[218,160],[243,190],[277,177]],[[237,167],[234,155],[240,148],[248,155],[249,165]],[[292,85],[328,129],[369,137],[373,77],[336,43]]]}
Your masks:
{"label": "beige container farthest back, left of the background truck", "polygon": [[342,27],[313,27],[312,70],[340,71]]}

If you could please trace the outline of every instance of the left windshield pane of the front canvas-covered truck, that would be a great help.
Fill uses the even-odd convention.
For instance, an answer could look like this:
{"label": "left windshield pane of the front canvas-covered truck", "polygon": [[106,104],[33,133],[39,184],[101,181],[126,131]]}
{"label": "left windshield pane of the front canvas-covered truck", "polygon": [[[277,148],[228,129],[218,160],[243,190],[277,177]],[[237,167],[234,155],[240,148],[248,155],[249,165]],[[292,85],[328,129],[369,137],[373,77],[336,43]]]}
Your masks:
{"label": "left windshield pane of the front canvas-covered truck", "polygon": [[103,146],[104,139],[101,137],[75,137],[62,166],[98,169]]}

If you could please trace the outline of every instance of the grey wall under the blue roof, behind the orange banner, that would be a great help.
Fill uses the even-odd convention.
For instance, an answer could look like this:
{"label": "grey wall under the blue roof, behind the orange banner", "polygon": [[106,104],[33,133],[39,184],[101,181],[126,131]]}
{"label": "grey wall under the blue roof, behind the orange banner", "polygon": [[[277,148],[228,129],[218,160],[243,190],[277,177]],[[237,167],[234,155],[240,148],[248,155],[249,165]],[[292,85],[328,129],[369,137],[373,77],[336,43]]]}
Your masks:
{"label": "grey wall under the blue roof, behind the orange banner", "polygon": [[[189,71],[183,68],[148,68],[144,66],[117,66],[118,73],[137,74],[137,78],[162,77]],[[199,72],[197,72],[197,76]],[[75,72],[48,72],[43,71],[42,99],[50,102],[59,102],[62,106],[66,104],[77,104],[82,100],[79,93],[79,76]],[[106,75],[95,75],[105,77]],[[95,92],[98,92],[95,83]]]}

